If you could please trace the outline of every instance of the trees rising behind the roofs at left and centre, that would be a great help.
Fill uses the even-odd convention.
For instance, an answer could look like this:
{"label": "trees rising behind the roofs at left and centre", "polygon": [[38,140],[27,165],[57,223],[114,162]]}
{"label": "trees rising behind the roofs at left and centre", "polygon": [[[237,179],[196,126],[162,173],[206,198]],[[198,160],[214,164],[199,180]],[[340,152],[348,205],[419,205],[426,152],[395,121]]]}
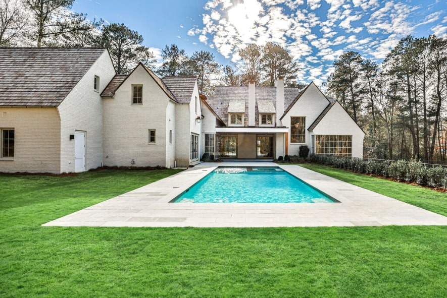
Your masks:
{"label": "trees rising behind the roofs at left and centre", "polygon": [[0,46],[107,47],[118,74],[139,62],[160,76],[196,76],[200,92],[210,94],[216,85],[245,85],[254,80],[273,86],[278,76],[296,86],[298,69],[283,47],[268,42],[239,51],[240,62],[222,66],[209,51],[188,56],[177,45],[162,49],[163,63],[156,67],[154,53],[142,45],[143,37],[124,24],[106,24],[74,13],[74,0],[0,0]]}

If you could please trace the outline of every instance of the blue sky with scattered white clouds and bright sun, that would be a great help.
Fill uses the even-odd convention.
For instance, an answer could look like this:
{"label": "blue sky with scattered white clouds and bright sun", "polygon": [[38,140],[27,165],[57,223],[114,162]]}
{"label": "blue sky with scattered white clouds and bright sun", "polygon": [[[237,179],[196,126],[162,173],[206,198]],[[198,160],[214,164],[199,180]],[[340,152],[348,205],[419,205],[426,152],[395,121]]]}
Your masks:
{"label": "blue sky with scattered white clouds and bright sun", "polygon": [[408,34],[447,37],[445,0],[76,0],[73,10],[124,23],[158,57],[175,43],[231,65],[247,44],[272,41],[300,64],[304,83],[326,81],[343,51],[381,62]]}

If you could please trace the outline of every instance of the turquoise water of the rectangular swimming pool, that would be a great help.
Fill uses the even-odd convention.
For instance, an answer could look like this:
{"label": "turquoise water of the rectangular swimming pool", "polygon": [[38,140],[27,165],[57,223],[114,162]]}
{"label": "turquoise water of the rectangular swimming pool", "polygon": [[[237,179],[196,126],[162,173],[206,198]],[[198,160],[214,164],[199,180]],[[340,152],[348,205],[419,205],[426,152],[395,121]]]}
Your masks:
{"label": "turquoise water of the rectangular swimming pool", "polygon": [[174,202],[333,203],[279,167],[218,167]]}

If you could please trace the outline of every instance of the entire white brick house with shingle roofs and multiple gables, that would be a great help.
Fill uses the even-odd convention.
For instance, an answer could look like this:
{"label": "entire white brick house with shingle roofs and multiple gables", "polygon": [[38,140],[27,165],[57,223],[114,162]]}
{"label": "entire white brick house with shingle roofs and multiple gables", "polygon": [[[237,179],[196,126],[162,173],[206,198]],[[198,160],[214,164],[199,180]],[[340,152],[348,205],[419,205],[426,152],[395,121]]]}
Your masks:
{"label": "entire white brick house with shingle roofs and multiple gables", "polygon": [[160,79],[139,64],[117,75],[103,48],[0,48],[0,172],[191,166],[204,153],[362,157],[364,132],[338,102],[305,89]]}

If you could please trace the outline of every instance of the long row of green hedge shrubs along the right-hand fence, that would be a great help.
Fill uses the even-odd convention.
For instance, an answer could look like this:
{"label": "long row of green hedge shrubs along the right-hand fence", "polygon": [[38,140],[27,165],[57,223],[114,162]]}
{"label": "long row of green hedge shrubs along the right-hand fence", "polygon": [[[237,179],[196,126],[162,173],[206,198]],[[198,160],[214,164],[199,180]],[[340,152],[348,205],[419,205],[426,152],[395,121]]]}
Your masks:
{"label": "long row of green hedge shrubs along the right-hand fence", "polygon": [[310,157],[312,162],[331,165],[359,173],[376,174],[393,178],[401,182],[416,183],[421,186],[447,188],[447,168],[442,166],[427,167],[421,161],[405,160],[363,160],[360,158],[335,155],[316,155]]}

